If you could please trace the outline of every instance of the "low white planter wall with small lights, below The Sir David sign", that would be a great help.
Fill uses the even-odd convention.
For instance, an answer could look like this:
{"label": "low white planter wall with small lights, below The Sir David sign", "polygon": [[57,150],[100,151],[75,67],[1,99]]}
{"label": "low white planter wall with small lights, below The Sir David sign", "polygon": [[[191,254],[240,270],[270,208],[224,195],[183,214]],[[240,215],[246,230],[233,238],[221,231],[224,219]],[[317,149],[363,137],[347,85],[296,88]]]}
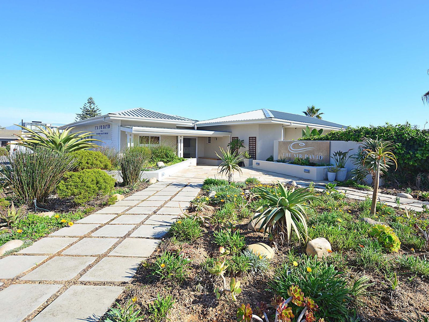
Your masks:
{"label": "low white planter wall with small lights, below The Sir David sign", "polygon": [[323,180],[326,173],[326,167],[310,167],[298,164],[260,160],[253,160],[253,168],[287,174],[289,176],[297,176],[299,178],[314,181]]}

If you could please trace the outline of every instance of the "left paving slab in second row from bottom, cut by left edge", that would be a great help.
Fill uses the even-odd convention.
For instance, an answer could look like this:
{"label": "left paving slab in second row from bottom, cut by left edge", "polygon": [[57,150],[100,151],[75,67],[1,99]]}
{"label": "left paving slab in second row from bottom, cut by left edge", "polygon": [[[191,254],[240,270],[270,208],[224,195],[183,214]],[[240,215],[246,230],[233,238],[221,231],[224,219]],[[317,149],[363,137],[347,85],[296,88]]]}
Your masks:
{"label": "left paving slab in second row from bottom, cut by left edge", "polygon": [[[0,259],[0,278],[14,278],[18,274],[24,273],[31,267],[44,261],[48,256],[18,256],[11,255]],[[0,302],[1,303],[1,302]],[[1,315],[0,315],[1,317]]]}

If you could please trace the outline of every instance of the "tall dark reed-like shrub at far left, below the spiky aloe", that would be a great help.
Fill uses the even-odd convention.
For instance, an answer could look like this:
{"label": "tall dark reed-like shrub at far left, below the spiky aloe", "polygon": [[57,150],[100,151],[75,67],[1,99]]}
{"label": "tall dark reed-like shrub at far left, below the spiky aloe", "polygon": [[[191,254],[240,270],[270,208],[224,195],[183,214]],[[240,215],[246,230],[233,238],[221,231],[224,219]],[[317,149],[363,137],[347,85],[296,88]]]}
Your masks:
{"label": "tall dark reed-like shrub at far left, below the spiky aloe", "polygon": [[9,166],[0,165],[4,191],[21,204],[38,203],[55,191],[67,171],[75,167],[73,155],[42,147],[19,149],[13,157],[6,156]]}

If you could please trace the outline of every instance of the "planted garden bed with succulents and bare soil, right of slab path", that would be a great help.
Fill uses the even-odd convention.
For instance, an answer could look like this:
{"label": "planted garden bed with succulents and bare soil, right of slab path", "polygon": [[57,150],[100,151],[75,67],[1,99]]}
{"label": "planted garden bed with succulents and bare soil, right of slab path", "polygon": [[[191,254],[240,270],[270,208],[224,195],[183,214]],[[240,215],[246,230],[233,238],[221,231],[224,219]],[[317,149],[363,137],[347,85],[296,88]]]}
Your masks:
{"label": "planted garden bed with succulents and bare soil, right of slab path", "polygon": [[[210,180],[211,184],[204,186],[206,190],[201,191],[195,205],[200,208],[199,212],[205,211],[205,216],[211,218],[213,227],[201,225],[199,237],[195,237],[198,234],[193,234],[193,230],[182,229],[182,232],[193,231],[194,237],[181,241],[184,235],[177,233],[177,227],[171,231],[139,268],[119,304],[134,304],[146,318],[153,318],[153,310],[148,305],[154,303],[154,298],[172,296],[175,304],[167,314],[172,321],[235,321],[237,308],[242,304],[249,303],[256,314],[260,301],[270,304],[275,294],[287,298],[286,290],[291,283],[296,283],[305,296],[312,297],[319,305],[319,310],[314,312],[317,319],[358,321],[357,316],[361,321],[419,321],[420,317],[424,321],[429,310],[429,261],[424,259],[427,246],[416,225],[428,225],[428,212],[406,213],[378,204],[376,215],[371,216],[370,200],[356,201],[332,192],[319,194],[320,200],[313,201],[315,211],[310,210],[306,216],[308,236],[310,240],[325,237],[332,245],[332,253],[317,261],[306,255],[306,243],[299,243],[294,234],[289,244],[278,243],[277,239],[273,244],[268,235],[248,229],[251,216],[263,203],[261,198],[254,197],[255,188]],[[272,189],[269,185],[264,188]],[[216,192],[215,197],[208,197],[210,191]],[[392,226],[402,242],[399,252],[388,252],[370,236],[372,226],[360,221],[362,217]],[[185,220],[181,219],[181,225]],[[261,242],[273,246],[275,256],[269,260],[268,269],[257,259],[249,261],[249,255],[241,256],[244,247],[240,243],[220,245],[221,240],[227,240],[225,236],[235,234],[244,237],[246,245]],[[225,276],[227,285],[232,277],[239,280],[242,292],[237,295],[237,301],[232,301],[230,295],[222,295],[217,300],[213,291],[221,287],[221,278],[209,273],[208,268],[213,267],[215,260],[222,259],[219,246],[232,251],[234,245],[239,245],[235,254],[224,257],[233,267],[233,270],[227,269]],[[174,255],[178,252],[181,255]],[[168,260],[166,254],[170,254]],[[183,258],[189,261],[174,268],[174,263]],[[370,285],[360,291],[353,289],[353,283],[363,276],[367,276],[365,283]],[[331,283],[327,278],[332,279]],[[332,290],[331,284],[342,285],[342,290],[349,293],[344,295],[339,289]],[[290,307],[295,315],[301,310],[294,304]],[[269,306],[270,321],[274,321],[274,313],[275,309]]]}

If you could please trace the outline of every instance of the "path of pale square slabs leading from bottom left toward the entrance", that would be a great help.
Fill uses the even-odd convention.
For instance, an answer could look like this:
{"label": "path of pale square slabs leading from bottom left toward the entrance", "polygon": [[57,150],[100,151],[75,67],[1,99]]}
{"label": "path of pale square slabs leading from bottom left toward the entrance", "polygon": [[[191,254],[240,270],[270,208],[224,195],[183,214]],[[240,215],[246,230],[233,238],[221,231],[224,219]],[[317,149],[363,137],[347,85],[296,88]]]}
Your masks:
{"label": "path of pale square slabs leading from bottom left toward the entrance", "polygon": [[157,182],[0,259],[0,322],[98,321],[200,188]]}

